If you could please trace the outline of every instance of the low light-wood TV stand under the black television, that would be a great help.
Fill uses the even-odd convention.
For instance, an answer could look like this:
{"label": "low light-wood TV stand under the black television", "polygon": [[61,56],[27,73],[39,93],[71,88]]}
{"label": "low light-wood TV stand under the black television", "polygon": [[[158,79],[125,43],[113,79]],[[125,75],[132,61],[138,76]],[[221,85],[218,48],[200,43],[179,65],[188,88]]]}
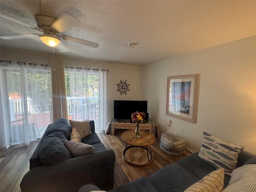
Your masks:
{"label": "low light-wood TV stand under the black television", "polygon": [[[130,120],[116,120],[114,119],[111,123],[112,135],[115,135],[115,129],[136,129],[136,124],[131,123]],[[150,120],[144,120],[143,123],[140,123],[139,129],[148,130],[152,133],[152,124]]]}

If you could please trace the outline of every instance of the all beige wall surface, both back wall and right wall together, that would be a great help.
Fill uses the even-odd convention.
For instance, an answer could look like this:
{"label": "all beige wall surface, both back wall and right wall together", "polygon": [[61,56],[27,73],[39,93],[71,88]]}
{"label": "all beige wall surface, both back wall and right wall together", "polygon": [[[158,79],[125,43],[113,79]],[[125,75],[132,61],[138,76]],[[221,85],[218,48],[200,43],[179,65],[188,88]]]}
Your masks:
{"label": "all beige wall surface, both back wall and right wall together", "polygon": [[[48,64],[48,54],[2,48],[0,51],[2,60]],[[114,115],[113,100],[148,100],[149,116],[158,122],[160,132],[177,134],[192,150],[200,149],[205,131],[256,154],[256,36],[142,66],[141,69],[58,55],[54,56],[54,62],[109,70],[107,120]],[[167,116],[167,77],[197,73],[201,74],[198,122],[194,124]],[[116,91],[120,80],[127,80],[130,84],[127,95]],[[167,126],[167,120],[172,120],[172,126]],[[180,132],[182,128],[183,133]]]}

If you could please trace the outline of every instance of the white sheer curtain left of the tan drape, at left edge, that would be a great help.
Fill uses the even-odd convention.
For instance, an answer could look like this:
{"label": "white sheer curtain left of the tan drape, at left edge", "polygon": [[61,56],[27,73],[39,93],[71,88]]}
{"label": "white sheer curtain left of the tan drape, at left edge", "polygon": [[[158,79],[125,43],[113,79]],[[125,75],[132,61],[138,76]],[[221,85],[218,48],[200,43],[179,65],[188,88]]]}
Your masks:
{"label": "white sheer curtain left of the tan drape, at left edge", "polygon": [[0,148],[29,144],[50,124],[50,68],[0,63]]}

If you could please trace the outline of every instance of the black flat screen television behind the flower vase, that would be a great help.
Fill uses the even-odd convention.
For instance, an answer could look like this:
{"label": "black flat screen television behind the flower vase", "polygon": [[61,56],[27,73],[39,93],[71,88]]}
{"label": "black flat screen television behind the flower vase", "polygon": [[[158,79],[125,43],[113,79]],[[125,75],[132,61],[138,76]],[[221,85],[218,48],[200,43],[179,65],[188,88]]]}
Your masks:
{"label": "black flat screen television behind the flower vase", "polygon": [[148,101],[114,100],[114,119],[131,119],[132,113],[147,113]]}

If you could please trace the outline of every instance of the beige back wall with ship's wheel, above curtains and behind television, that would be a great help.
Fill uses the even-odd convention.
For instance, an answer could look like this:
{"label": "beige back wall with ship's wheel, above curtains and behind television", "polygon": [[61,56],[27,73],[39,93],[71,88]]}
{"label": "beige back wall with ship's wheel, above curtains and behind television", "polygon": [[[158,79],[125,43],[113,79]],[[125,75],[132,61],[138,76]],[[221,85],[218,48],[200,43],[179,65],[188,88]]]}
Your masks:
{"label": "beige back wall with ship's wheel, above curtains and behind television", "polygon": [[[33,52],[22,52],[1,48],[1,60],[22,61],[26,63],[48,64],[48,54]],[[110,62],[68,58],[59,55],[50,55],[50,63],[62,64],[64,66],[87,67],[108,69],[107,72],[107,120],[114,118],[114,100],[140,100],[140,67]],[[130,84],[130,91],[120,95],[118,86],[120,80]],[[112,94],[112,97],[110,97]]]}

